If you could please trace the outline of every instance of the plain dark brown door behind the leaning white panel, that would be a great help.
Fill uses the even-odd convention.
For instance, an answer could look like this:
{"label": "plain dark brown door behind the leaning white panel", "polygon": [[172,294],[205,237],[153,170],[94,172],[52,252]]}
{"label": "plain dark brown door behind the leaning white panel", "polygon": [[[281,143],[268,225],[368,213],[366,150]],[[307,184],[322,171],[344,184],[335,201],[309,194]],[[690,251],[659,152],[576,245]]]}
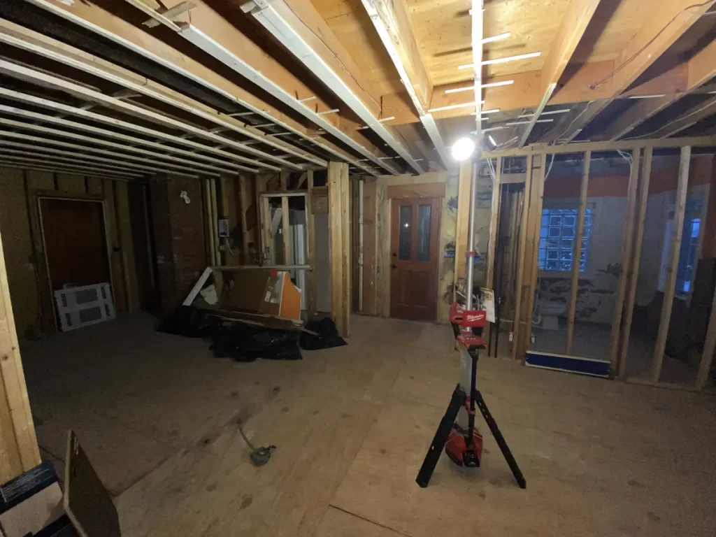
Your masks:
{"label": "plain dark brown door behind the leaning white panel", "polygon": [[110,283],[102,203],[40,198],[40,207],[52,291]]}

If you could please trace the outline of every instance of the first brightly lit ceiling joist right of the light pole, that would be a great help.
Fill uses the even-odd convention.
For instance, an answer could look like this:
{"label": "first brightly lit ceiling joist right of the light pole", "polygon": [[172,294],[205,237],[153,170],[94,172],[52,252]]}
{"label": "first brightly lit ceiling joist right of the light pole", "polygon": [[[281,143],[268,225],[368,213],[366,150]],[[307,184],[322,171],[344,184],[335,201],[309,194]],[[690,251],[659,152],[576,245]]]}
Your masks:
{"label": "first brightly lit ceiling joist right of the light pole", "polygon": [[596,8],[601,0],[571,0],[566,13],[562,17],[561,24],[553,40],[549,52],[544,60],[541,73],[542,97],[532,116],[526,125],[519,141],[519,147],[527,142],[532,129],[539,117],[548,105],[554,91],[557,89],[559,80],[569,64],[574,51],[576,50],[587,26],[591,21]]}

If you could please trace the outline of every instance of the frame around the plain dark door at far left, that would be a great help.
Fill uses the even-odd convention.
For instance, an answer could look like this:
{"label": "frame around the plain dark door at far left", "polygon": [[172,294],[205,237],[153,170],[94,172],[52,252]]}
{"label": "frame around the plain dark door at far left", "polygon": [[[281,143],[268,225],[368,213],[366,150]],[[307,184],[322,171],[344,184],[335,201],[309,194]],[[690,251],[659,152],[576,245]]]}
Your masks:
{"label": "frame around the plain dark door at far left", "polygon": [[[89,193],[64,193],[58,192],[57,190],[29,190],[29,203],[30,210],[30,221],[32,223],[32,231],[34,236],[33,249],[36,252],[38,258],[34,261],[35,269],[40,270],[40,276],[44,278],[47,285],[40,283],[38,285],[38,294],[42,294],[46,297],[40,301],[40,312],[45,317],[52,318],[52,325],[54,331],[59,332],[59,324],[57,320],[57,311],[54,307],[54,293],[52,292],[52,280],[49,274],[49,263],[47,261],[47,247],[45,244],[45,233],[44,225],[42,222],[42,204],[40,203],[43,199],[59,199],[67,201],[85,201],[90,203],[100,203],[102,205],[102,222],[105,224],[105,246],[107,247],[107,265],[110,272],[110,289],[112,290],[112,301],[115,302],[115,308],[117,305],[117,293],[115,291],[115,274],[112,269],[112,240],[110,222],[107,220],[107,206],[105,196],[102,194],[89,194]],[[44,287],[44,291],[41,289]],[[49,297],[49,300],[47,299]],[[43,311],[44,310],[44,311]]]}

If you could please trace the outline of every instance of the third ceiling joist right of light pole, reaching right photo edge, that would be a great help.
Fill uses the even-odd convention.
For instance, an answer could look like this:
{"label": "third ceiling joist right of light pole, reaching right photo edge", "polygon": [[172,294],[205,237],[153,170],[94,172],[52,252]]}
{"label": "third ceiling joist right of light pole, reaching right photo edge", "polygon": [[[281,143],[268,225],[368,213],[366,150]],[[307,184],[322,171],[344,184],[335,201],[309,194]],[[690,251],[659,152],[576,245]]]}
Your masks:
{"label": "third ceiling joist right of light pole, reaching right photo edge", "polygon": [[[684,95],[697,91],[703,84],[716,77],[716,39],[695,54],[688,62],[681,64],[686,72],[687,88],[679,94],[664,95],[654,99],[645,99],[637,102],[629,110],[624,112],[604,132],[605,140],[619,140],[634,130],[639,125],[666,107],[673,105]],[[654,92],[652,95],[662,95],[662,92]]]}

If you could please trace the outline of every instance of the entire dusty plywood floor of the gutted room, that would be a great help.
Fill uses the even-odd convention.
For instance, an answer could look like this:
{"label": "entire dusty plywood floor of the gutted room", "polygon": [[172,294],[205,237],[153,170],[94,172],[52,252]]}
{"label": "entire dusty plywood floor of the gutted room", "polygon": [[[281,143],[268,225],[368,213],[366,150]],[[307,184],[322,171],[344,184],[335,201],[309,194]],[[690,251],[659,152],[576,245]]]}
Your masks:
{"label": "entire dusty plywood floor of the gutted room", "polygon": [[[712,395],[485,358],[478,382],[528,488],[480,419],[483,468],[442,457],[421,489],[458,378],[450,329],[352,324],[348,347],[301,362],[213,359],[141,316],[34,344],[24,352],[40,442],[77,427],[119,493],[125,537],[713,535]],[[82,364],[89,372],[70,379]],[[278,446],[263,468],[249,464],[237,418]]]}

